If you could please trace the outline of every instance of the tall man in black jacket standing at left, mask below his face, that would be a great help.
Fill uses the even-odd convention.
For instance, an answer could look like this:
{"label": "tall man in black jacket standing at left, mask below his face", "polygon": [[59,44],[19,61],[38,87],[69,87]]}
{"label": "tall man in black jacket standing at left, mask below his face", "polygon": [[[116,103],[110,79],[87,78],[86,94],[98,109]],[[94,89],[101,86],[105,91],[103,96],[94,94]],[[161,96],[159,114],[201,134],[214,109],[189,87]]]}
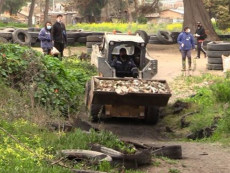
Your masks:
{"label": "tall man in black jacket standing at left, mask below his face", "polygon": [[[63,51],[65,48],[66,29],[64,23],[62,23],[62,15],[57,15],[57,21],[53,25],[52,38],[54,40],[54,47],[60,52],[61,58],[63,57]],[[56,55],[57,56],[57,55]]]}

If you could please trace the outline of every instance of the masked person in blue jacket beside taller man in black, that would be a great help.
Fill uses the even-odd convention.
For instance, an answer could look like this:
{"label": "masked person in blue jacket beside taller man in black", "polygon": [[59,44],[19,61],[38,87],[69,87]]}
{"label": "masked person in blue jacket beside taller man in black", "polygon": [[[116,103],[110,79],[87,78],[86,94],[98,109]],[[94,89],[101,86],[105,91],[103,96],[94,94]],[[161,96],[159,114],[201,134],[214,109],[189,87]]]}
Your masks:
{"label": "masked person in blue jacket beside taller man in black", "polygon": [[44,55],[49,55],[53,48],[52,37],[51,37],[52,23],[47,21],[45,27],[39,32],[38,38],[41,41],[41,48]]}

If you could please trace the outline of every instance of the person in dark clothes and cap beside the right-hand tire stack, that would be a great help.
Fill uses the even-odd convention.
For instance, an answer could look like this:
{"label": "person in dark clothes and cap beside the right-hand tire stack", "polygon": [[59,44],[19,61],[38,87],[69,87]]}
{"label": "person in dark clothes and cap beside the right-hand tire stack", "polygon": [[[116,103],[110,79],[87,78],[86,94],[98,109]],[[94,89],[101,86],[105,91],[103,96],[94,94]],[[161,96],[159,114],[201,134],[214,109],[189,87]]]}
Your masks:
{"label": "person in dark clothes and cap beside the right-hand tire stack", "polygon": [[195,37],[197,38],[197,57],[196,59],[200,58],[201,51],[204,53],[204,57],[206,58],[207,53],[203,48],[203,43],[206,38],[206,34],[205,34],[205,29],[203,28],[200,22],[197,22],[197,29],[196,29]]}

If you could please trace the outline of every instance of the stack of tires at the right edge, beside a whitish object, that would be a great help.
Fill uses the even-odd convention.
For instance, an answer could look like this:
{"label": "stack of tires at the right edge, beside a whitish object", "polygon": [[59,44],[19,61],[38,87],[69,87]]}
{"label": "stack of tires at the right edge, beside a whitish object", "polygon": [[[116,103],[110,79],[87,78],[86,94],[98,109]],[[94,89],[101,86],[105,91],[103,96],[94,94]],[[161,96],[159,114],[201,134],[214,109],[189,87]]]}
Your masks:
{"label": "stack of tires at the right edge, beside a whitish object", "polygon": [[208,70],[223,70],[222,55],[230,55],[230,42],[210,42],[207,44]]}

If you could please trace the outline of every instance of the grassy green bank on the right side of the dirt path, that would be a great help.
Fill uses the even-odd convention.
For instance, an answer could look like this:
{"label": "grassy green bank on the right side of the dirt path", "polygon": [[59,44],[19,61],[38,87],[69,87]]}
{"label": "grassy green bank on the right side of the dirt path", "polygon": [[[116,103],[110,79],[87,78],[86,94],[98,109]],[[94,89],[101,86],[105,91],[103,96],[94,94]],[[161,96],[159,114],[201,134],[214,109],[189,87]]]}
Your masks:
{"label": "grassy green bank on the right side of the dirt path", "polygon": [[[164,122],[178,129],[179,135],[186,135],[189,132],[196,133],[204,128],[215,126],[215,131],[209,139],[212,141],[229,141],[229,84],[230,79],[210,74],[185,79],[184,85],[189,85],[189,89],[192,88],[196,92],[195,96],[183,99],[190,103],[190,107],[180,113],[181,116],[171,115]],[[195,114],[186,118],[190,125],[181,130],[181,117],[191,112]]]}

